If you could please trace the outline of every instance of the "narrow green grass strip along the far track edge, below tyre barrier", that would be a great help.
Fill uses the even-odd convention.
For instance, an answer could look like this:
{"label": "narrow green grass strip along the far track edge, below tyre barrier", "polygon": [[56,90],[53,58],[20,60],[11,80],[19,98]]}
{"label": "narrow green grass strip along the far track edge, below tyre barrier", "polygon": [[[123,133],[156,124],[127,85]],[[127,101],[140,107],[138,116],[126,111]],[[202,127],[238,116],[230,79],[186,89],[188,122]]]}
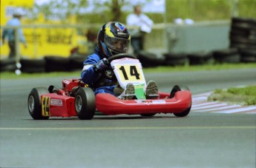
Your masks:
{"label": "narrow green grass strip along the far track edge, below tyre barrier", "polygon": [[[205,64],[197,66],[177,66],[177,67],[154,67],[143,68],[144,73],[162,73],[162,72],[190,72],[190,71],[205,71],[205,70],[234,70],[256,68],[256,64]],[[75,72],[59,72],[59,73],[22,73],[16,75],[12,72],[0,73],[1,79],[14,79],[14,78],[50,78],[59,76],[70,76],[80,78],[81,71]]]}

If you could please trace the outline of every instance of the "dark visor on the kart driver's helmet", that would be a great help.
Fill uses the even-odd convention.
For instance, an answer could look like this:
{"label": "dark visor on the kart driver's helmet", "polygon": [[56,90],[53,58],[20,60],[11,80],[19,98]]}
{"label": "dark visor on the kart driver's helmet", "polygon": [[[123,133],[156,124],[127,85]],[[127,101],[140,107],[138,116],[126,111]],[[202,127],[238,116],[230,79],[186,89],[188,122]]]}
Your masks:
{"label": "dark visor on the kart driver's helmet", "polygon": [[116,51],[117,53],[126,53],[128,52],[130,39],[118,38],[118,37],[109,37],[105,35],[104,42],[106,46]]}

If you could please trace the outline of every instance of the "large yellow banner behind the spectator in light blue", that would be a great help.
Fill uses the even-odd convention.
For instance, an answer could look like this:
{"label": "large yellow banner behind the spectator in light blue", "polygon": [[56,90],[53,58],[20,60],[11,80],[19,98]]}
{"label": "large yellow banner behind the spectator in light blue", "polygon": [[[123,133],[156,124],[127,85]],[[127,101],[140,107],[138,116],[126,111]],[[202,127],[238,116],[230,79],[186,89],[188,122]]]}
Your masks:
{"label": "large yellow banner behind the spectator in light blue", "polygon": [[[86,30],[78,31],[75,27],[62,27],[62,24],[76,24],[75,16],[62,21],[53,17],[46,19],[45,13],[37,13],[36,19],[32,19],[30,10],[33,5],[34,0],[1,0],[1,33],[2,26],[5,26],[7,21],[13,17],[13,13],[22,14],[22,25],[36,26],[36,28],[22,28],[27,41],[27,48],[20,44],[22,58],[68,57],[74,48],[77,48],[78,53],[81,54],[88,52]],[[47,27],[40,27],[42,24],[47,24]],[[58,25],[59,27],[56,27]],[[10,49],[7,42],[0,44],[0,50],[1,58],[9,55]]]}

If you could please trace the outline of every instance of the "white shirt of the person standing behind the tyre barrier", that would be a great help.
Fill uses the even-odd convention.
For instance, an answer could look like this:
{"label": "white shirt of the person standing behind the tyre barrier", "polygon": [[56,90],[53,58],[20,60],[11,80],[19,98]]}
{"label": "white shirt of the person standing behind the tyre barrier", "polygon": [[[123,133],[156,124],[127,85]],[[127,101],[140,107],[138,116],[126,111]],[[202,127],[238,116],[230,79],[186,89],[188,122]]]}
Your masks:
{"label": "white shirt of the person standing behind the tyre barrier", "polygon": [[[143,13],[141,13],[140,16],[137,16],[135,13],[131,13],[126,18],[126,24],[131,27],[140,27],[142,32],[151,33],[151,27],[154,22]],[[138,29],[131,29],[130,31],[131,35],[139,32],[140,31]]]}

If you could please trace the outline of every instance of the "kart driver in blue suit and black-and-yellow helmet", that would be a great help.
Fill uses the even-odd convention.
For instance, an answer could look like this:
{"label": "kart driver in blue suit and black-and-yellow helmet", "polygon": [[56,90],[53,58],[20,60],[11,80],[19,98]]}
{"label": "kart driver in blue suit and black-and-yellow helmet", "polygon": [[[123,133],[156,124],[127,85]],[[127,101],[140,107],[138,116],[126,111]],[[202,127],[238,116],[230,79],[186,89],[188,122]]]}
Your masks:
{"label": "kart driver in blue suit and black-and-yellow helmet", "polygon": [[[133,84],[127,84],[123,90],[116,80],[102,75],[102,72],[110,68],[107,58],[119,53],[127,53],[131,36],[124,24],[117,21],[109,21],[99,30],[97,46],[91,56],[84,62],[81,77],[85,84],[94,89],[94,94],[110,93],[120,99],[132,99],[135,95]],[[145,87],[145,95],[157,95],[158,88],[154,81],[149,81]]]}

